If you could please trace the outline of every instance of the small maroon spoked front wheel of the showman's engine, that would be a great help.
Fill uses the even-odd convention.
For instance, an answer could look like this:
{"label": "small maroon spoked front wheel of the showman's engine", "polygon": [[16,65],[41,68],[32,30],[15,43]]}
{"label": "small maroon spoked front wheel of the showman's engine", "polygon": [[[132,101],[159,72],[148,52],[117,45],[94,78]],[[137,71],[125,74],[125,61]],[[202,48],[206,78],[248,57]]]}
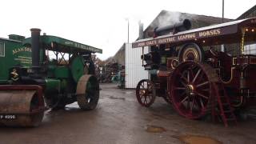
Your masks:
{"label": "small maroon spoked front wheel of the showman's engine", "polygon": [[156,90],[149,79],[142,79],[136,87],[136,98],[142,106],[149,107],[154,103]]}

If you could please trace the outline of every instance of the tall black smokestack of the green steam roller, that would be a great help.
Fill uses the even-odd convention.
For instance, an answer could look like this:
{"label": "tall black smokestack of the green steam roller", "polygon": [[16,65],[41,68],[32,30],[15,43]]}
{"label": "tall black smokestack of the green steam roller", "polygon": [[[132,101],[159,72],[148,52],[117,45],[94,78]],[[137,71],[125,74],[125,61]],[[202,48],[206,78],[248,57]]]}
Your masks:
{"label": "tall black smokestack of the green steam roller", "polygon": [[40,29],[33,28],[31,31],[31,46],[32,46],[32,66],[39,67],[40,61]]}

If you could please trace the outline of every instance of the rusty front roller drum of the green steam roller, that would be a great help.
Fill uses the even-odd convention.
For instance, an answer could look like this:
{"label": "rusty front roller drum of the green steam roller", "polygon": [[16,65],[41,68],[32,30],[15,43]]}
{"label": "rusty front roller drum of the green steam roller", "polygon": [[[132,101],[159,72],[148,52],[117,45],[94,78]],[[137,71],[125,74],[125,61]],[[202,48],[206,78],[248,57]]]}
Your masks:
{"label": "rusty front roller drum of the green steam roller", "polygon": [[0,96],[0,126],[34,127],[42,122],[45,107],[37,90],[1,90]]}

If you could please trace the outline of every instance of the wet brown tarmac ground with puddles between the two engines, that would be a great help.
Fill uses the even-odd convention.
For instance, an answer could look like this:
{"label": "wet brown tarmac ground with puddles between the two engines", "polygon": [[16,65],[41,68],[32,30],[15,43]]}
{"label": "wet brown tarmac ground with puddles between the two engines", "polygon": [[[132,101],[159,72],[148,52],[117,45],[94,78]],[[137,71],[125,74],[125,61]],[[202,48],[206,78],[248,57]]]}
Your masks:
{"label": "wet brown tarmac ground with puddles between the two engines", "polygon": [[256,143],[256,120],[238,126],[189,120],[179,116],[162,98],[150,108],[138,104],[134,90],[102,84],[98,107],[82,111],[76,103],[66,110],[46,111],[35,128],[0,128],[0,144],[250,144]]}

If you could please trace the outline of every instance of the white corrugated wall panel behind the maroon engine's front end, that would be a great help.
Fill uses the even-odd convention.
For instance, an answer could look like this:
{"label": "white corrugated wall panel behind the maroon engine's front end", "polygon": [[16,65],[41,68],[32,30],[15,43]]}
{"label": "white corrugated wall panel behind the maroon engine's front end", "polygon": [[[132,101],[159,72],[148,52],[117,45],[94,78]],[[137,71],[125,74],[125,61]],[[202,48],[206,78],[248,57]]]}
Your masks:
{"label": "white corrugated wall panel behind the maroon engine's front end", "polygon": [[[149,73],[142,66],[142,48],[131,47],[131,43],[126,44],[126,88],[136,88],[138,82],[142,79],[149,79]],[[149,48],[144,48],[144,54],[149,52]]]}

